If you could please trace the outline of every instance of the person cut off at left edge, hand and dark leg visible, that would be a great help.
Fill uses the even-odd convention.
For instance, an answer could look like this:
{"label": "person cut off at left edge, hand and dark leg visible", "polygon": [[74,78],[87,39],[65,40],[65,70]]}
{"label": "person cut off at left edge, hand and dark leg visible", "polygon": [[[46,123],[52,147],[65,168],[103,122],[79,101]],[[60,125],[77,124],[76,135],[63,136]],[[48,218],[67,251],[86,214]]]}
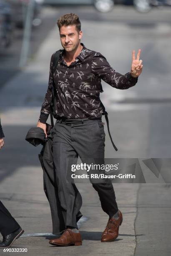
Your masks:
{"label": "person cut off at left edge, hand and dark leg visible", "polygon": [[[0,149],[4,146],[4,133],[0,123]],[[19,238],[24,230],[11,216],[10,212],[5,208],[3,203],[0,201],[0,233],[3,236],[3,241],[0,242],[0,248],[10,247],[15,239]]]}

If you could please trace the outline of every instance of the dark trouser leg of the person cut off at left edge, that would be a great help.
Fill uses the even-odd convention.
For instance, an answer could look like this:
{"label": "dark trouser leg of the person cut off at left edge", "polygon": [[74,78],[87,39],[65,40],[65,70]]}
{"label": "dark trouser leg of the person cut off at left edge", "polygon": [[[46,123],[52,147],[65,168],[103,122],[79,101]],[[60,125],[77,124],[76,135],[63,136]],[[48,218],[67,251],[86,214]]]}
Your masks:
{"label": "dark trouser leg of the person cut off at left edge", "polygon": [[20,225],[0,201],[0,233],[5,237],[18,228],[20,228]]}

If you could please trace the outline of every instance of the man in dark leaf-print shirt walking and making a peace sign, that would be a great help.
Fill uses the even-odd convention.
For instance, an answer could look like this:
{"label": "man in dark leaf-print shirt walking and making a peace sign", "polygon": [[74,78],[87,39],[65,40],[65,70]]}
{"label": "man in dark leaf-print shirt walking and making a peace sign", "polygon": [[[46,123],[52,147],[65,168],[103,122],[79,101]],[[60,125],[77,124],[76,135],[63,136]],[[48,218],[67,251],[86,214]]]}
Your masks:
{"label": "man in dark leaf-print shirt walking and making a peace sign", "polygon": [[[73,13],[65,14],[57,22],[63,50],[53,74],[53,56],[50,61],[48,91],[45,95],[38,127],[46,134],[46,120],[53,102],[53,84],[55,86],[55,118],[53,128],[53,161],[55,179],[58,185],[60,205],[65,209],[65,232],[60,238],[51,239],[56,246],[81,245],[82,240],[76,223],[75,191],[67,182],[68,162],[76,164],[78,155],[83,162],[88,159],[101,159],[104,163],[105,133],[101,120],[103,109],[100,104],[101,79],[117,89],[128,89],[136,84],[142,71],[140,52],[132,55],[131,72],[125,75],[116,72],[106,58],[87,49],[80,39],[83,32],[79,17]],[[118,237],[119,225],[123,217],[116,203],[111,181],[95,183],[101,207],[109,216],[103,231],[101,242],[111,242]]]}

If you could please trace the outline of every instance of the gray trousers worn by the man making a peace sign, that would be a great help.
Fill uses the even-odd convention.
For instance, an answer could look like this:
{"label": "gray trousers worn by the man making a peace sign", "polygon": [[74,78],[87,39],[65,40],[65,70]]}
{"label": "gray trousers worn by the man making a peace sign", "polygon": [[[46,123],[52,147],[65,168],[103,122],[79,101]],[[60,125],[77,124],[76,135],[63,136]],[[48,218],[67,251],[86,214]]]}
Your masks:
{"label": "gray trousers worn by the man making a peace sign", "polygon": [[[92,163],[99,159],[104,164],[105,132],[100,119],[58,119],[52,130],[53,161],[55,177],[58,185],[60,205],[66,211],[65,225],[78,228],[75,212],[75,189],[68,182],[71,164],[77,164],[78,156],[83,163]],[[98,192],[101,207],[109,217],[118,211],[115,192],[111,180],[106,183],[93,183]]]}

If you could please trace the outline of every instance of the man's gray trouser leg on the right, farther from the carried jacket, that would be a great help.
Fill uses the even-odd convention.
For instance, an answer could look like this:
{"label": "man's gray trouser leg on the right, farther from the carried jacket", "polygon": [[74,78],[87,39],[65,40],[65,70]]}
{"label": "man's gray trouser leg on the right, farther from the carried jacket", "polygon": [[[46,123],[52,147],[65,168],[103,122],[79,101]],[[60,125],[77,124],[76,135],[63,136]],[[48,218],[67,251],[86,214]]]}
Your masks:
{"label": "man's gray trouser leg on the right, farther from the carried jacket", "polygon": [[[72,138],[73,147],[83,163],[91,164],[91,159],[94,158],[99,159],[99,163],[104,164],[105,133],[100,120],[84,121],[82,126],[74,125]],[[111,217],[118,211],[111,180],[106,179],[106,183],[93,183],[93,188],[98,192],[103,211]]]}

